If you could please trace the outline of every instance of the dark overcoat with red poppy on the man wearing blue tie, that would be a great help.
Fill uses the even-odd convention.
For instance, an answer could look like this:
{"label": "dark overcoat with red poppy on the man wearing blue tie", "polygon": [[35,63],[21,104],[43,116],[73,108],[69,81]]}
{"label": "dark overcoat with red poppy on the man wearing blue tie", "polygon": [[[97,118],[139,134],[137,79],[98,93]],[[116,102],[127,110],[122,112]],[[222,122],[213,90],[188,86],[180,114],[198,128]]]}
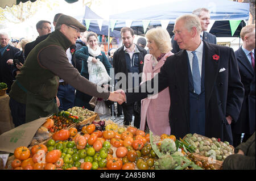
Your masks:
{"label": "dark overcoat with red poppy on the man wearing blue tie", "polygon": [[[215,58],[215,55],[219,58]],[[237,121],[244,91],[236,57],[232,48],[209,44],[205,41],[204,56],[205,136],[232,142],[231,127],[226,121],[226,116],[230,115],[233,121]],[[183,138],[190,130],[187,51],[181,50],[168,57],[158,77],[143,83],[139,93],[126,91],[127,103],[146,98],[150,93],[141,91],[147,90],[147,86],[154,87],[155,78],[158,78],[159,91],[169,87],[171,133]]]}

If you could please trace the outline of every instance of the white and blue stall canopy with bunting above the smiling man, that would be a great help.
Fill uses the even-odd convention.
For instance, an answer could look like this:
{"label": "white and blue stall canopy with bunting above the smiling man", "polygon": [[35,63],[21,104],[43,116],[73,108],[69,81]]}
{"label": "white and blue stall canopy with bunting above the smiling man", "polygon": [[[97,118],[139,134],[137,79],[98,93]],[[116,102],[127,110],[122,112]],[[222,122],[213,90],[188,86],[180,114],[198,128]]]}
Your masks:
{"label": "white and blue stall canopy with bunting above the smiling man", "polygon": [[150,28],[162,26],[172,36],[175,19],[183,14],[191,14],[200,7],[210,11],[211,22],[214,22],[210,32],[216,36],[239,36],[241,28],[245,26],[242,20],[249,19],[249,3],[228,0],[177,0],[110,15],[109,19],[114,30],[131,27],[135,34],[144,35]]}

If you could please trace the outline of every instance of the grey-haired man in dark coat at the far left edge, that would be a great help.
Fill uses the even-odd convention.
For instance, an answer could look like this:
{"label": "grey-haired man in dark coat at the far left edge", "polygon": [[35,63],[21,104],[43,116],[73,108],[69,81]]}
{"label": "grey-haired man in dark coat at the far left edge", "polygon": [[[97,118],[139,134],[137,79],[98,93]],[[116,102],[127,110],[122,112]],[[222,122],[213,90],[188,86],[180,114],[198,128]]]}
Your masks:
{"label": "grey-haired man in dark coat at the far left edge", "polygon": [[15,48],[9,44],[9,36],[7,33],[0,32],[0,82],[7,84],[7,93],[11,90],[11,85],[15,80],[13,76],[13,58],[14,54],[20,49]]}

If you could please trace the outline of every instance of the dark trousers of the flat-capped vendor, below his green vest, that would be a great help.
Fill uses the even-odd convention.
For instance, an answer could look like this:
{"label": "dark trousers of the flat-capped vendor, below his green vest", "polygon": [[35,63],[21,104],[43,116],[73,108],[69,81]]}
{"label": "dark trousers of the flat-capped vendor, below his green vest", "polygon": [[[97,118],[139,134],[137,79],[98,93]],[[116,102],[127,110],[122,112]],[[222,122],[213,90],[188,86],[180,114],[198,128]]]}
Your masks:
{"label": "dark trousers of the flat-capped vendor, below his green vest", "polygon": [[26,123],[26,104],[16,102],[13,98],[10,98],[9,106],[11,110],[11,116],[13,116],[13,124],[15,127]]}

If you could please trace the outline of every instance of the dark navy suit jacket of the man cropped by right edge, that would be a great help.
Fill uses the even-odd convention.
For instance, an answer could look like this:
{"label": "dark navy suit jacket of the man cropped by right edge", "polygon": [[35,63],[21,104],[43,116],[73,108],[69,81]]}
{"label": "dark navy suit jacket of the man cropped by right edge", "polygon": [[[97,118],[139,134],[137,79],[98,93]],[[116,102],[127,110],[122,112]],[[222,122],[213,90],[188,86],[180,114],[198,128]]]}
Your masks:
{"label": "dark navy suit jacket of the man cropped by right edge", "polygon": [[235,55],[245,95],[239,119],[237,123],[232,123],[232,132],[253,134],[255,132],[255,71],[242,47],[235,52]]}

